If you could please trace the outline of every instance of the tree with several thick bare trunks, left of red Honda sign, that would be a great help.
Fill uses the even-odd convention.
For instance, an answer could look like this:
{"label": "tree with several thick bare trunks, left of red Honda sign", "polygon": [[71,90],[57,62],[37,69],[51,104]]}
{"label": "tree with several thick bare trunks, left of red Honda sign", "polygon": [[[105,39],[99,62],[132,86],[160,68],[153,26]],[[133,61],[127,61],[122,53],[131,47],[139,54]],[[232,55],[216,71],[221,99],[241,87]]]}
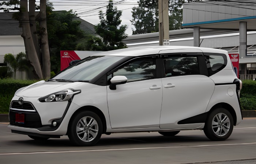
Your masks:
{"label": "tree with several thick bare trunks, left of red Honda sign", "polygon": [[[35,0],[29,0],[29,10],[28,0],[4,1],[0,3],[0,7],[3,5],[8,7],[14,5],[14,8],[0,8],[5,12],[9,12],[9,10],[19,11],[14,13],[13,18],[19,20],[20,27],[22,27],[21,36],[24,40],[27,59],[34,68],[35,78],[49,78],[50,55],[46,28],[46,0],[40,0],[41,9],[38,16],[35,15],[35,9],[39,9],[35,4]],[[39,22],[40,33],[36,30],[36,20]],[[39,37],[36,35],[39,35]]]}

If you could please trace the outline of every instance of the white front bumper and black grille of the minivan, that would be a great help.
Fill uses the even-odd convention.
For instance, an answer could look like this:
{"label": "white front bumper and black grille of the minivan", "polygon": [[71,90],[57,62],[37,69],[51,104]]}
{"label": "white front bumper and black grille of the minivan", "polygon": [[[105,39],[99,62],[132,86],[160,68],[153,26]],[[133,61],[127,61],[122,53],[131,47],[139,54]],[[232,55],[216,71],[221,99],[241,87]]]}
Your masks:
{"label": "white front bumper and black grille of the minivan", "polygon": [[[13,133],[26,134],[32,136],[42,135],[52,135],[62,136],[67,133],[68,122],[74,110],[78,109],[79,106],[72,103],[71,101],[65,102],[39,102],[38,98],[27,98],[23,97],[24,102],[30,103],[34,109],[27,110],[22,109],[20,106],[13,106],[13,102],[16,102],[19,97],[15,96],[12,99],[9,119],[10,125],[8,128],[12,130]],[[69,109],[72,111],[68,111]],[[22,113],[25,115],[24,122],[16,122],[15,114]],[[68,116],[67,116],[68,113]],[[57,122],[56,126],[52,125],[52,122]],[[35,133],[35,134],[33,134]]]}

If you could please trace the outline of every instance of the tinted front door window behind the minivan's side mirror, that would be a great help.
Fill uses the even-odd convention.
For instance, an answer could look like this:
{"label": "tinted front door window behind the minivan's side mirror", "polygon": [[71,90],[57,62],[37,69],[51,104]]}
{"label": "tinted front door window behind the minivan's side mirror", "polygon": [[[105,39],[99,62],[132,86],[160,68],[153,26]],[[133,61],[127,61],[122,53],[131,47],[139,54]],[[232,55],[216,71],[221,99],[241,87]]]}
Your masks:
{"label": "tinted front door window behind the minivan's side mirror", "polygon": [[125,76],[127,82],[153,79],[156,76],[156,60],[153,58],[138,58],[125,63],[113,76]]}

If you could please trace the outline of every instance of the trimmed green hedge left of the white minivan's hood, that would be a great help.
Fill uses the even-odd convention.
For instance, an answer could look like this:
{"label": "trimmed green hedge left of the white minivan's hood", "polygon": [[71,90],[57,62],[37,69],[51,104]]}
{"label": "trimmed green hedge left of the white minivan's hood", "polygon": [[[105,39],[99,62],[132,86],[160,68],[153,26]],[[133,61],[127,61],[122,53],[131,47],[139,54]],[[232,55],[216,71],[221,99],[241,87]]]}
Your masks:
{"label": "trimmed green hedge left of the white minivan's hood", "polygon": [[16,90],[31,85],[37,80],[0,79],[0,113],[8,113]]}

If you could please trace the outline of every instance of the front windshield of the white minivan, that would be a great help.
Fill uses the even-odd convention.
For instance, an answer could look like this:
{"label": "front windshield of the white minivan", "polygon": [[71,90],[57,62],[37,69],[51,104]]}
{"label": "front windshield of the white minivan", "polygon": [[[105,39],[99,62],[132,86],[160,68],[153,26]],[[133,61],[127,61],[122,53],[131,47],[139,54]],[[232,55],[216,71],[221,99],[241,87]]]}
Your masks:
{"label": "front windshield of the white minivan", "polygon": [[71,65],[49,81],[90,81],[113,63],[126,56],[90,56]]}

